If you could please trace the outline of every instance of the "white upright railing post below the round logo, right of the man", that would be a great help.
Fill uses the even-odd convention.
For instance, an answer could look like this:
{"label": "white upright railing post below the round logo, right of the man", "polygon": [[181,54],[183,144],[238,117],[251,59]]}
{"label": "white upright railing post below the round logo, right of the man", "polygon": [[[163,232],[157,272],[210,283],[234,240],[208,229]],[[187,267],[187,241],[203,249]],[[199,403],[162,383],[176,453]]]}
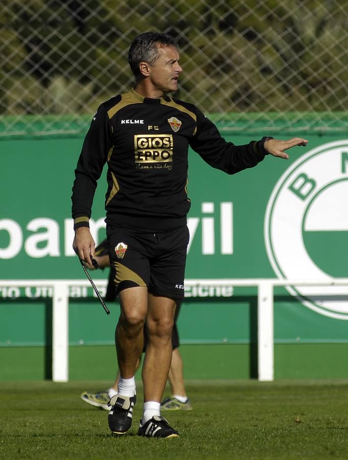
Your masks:
{"label": "white upright railing post below the round logo, right of the man", "polygon": [[260,381],[272,381],[274,378],[273,340],[273,285],[261,282],[258,286],[258,378]]}

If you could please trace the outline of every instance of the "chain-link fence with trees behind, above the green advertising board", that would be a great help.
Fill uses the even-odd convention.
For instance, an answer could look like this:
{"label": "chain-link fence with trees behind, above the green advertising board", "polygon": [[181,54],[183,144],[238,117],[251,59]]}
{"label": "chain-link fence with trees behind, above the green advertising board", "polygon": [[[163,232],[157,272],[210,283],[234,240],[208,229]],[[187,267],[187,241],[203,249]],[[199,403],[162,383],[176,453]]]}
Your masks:
{"label": "chain-link fence with trees behind, above the green advertising board", "polygon": [[0,134],[82,133],[132,39],[178,39],[180,89],[234,130],[348,128],[348,0],[3,0]]}

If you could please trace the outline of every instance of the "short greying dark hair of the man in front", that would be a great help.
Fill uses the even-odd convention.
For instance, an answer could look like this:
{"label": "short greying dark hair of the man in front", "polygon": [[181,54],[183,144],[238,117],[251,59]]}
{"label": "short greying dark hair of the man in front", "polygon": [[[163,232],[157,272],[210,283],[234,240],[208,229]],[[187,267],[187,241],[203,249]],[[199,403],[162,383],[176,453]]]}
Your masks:
{"label": "short greying dark hair of the man in front", "polygon": [[138,35],[132,41],[128,52],[128,62],[135,76],[140,74],[140,62],[154,64],[158,56],[156,43],[165,47],[177,48],[177,43],[171,35],[157,32],[145,32]]}

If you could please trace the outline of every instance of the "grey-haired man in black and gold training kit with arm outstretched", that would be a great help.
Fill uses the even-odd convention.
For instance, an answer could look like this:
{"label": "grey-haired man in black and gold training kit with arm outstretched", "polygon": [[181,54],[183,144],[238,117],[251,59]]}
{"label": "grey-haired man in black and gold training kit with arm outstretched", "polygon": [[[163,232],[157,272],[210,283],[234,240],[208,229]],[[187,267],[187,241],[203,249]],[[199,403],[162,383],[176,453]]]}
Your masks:
{"label": "grey-haired man in black and gold training kit with arm outstretched", "polygon": [[91,264],[95,243],[88,221],[107,163],[106,232],[121,305],[115,332],[120,382],[118,395],[110,400],[109,427],[122,435],[131,426],[134,370],[146,319],[149,341],[138,435],[173,438],[179,433],[160,417],[159,405],[170,368],[175,305],[184,295],[189,147],[212,167],[234,174],[256,166],[268,153],[288,158],[284,150],[307,141],[263,137],[242,146],[226,142],[194,105],[168,96],[177,89],[182,68],[176,43],[166,34],[137,36],[129,63],[135,87],[100,105],[83,143],[72,196],[73,245]]}

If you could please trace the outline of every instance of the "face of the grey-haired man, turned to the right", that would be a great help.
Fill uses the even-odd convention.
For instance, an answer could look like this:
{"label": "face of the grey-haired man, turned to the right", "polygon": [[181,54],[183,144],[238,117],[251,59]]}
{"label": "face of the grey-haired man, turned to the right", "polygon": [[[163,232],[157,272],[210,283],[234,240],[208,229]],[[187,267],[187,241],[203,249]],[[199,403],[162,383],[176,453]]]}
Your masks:
{"label": "face of the grey-haired man, turned to the right", "polygon": [[174,47],[161,47],[156,44],[158,57],[149,67],[149,79],[153,88],[163,93],[171,93],[178,89],[178,77],[182,72],[179,65],[179,53]]}

